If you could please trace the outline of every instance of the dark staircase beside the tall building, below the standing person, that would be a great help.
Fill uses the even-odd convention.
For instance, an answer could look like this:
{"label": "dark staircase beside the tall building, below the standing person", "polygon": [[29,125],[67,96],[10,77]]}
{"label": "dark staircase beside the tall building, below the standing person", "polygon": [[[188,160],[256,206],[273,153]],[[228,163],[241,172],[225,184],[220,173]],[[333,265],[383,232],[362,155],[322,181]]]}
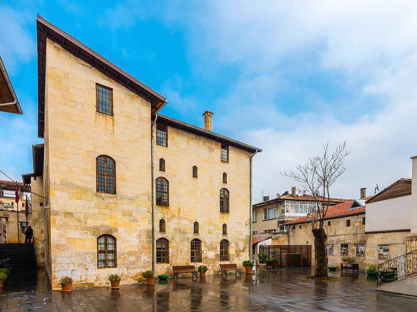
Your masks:
{"label": "dark staircase beside the tall building, below the standing person", "polygon": [[9,258],[10,270],[36,270],[37,262],[33,244],[0,244],[0,259]]}

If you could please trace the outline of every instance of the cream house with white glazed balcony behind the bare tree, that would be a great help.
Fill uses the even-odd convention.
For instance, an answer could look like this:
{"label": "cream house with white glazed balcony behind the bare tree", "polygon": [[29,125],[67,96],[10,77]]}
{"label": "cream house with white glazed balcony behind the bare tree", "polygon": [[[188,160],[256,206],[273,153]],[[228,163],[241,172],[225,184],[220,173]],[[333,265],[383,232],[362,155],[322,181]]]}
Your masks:
{"label": "cream house with white glazed balcony behind the bare tree", "polygon": [[[322,196],[319,196],[322,199]],[[265,198],[264,198],[265,199]],[[329,206],[345,203],[349,199],[330,198]],[[252,233],[287,232],[286,223],[314,213],[317,203],[312,196],[296,195],[295,187],[280,197],[264,200],[252,206]]]}

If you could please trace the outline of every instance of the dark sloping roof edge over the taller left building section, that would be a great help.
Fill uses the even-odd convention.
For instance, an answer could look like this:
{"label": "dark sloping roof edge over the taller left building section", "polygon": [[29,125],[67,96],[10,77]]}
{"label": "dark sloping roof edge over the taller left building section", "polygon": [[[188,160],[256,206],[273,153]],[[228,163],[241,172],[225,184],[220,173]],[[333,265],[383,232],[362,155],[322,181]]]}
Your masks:
{"label": "dark sloping roof edge over the taller left building section", "polygon": [[151,114],[156,114],[167,103],[166,98],[161,94],[39,15],[36,18],[36,37],[38,46],[38,137],[43,138],[45,127],[46,38],[56,42],[71,54],[90,64],[91,67],[149,101]]}

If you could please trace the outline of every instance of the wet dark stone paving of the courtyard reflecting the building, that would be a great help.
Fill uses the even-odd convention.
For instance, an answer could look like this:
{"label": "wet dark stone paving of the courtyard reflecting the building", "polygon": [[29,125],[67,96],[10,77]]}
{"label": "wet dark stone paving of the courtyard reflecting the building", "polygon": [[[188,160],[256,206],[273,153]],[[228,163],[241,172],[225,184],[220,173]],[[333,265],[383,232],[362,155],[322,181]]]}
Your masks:
{"label": "wet dark stone paving of the courtyard reflecting the building", "polygon": [[243,273],[241,279],[220,275],[166,284],[39,292],[0,297],[0,311],[416,311],[417,299],[374,290],[376,281],[363,273],[341,273],[340,282],[301,280],[311,269]]}

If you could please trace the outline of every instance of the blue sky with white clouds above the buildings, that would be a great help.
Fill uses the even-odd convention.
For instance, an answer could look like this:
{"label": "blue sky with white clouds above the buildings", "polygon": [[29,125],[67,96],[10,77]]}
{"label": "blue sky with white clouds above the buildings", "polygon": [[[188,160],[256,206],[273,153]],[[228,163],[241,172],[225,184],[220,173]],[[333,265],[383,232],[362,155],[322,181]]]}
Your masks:
{"label": "blue sky with white clouds above the buildings", "polygon": [[[410,177],[417,154],[414,2],[0,1],[0,55],[23,116],[0,114],[0,168],[32,171],[37,138],[36,14],[111,60],[169,104],[162,113],[264,149],[254,196],[296,185],[280,171],[347,140],[332,196]],[[414,132],[413,132],[414,131]],[[414,133],[414,134],[413,134]],[[254,200],[254,202],[257,201]]]}

